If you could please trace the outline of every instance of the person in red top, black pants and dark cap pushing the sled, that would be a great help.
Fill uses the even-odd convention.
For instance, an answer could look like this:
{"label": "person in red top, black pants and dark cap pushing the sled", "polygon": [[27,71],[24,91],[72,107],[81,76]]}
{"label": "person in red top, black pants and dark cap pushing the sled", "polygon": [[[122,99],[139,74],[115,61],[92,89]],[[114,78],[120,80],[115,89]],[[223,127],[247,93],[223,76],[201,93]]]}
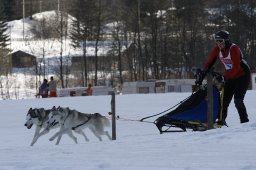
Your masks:
{"label": "person in red top, black pants and dark cap pushing the sled", "polygon": [[[204,77],[217,59],[224,65],[225,85],[222,113],[219,114],[216,123],[219,125],[226,125],[228,106],[233,96],[235,107],[239,113],[240,123],[249,122],[246,107],[244,105],[244,97],[250,84],[250,68],[244,60],[240,48],[230,41],[228,31],[221,30],[216,32],[214,34],[214,39],[216,46],[212,49],[201,75]],[[200,81],[202,80],[203,78]],[[196,83],[200,84],[202,82]]]}

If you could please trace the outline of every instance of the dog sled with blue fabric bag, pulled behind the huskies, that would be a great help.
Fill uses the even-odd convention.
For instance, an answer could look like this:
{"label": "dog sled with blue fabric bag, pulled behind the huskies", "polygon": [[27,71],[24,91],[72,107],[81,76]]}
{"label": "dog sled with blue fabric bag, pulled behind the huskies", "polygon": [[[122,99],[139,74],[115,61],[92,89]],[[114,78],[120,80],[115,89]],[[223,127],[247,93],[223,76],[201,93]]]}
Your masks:
{"label": "dog sled with blue fabric bag, pulled behind the huskies", "polygon": [[[213,122],[220,120],[221,118],[221,93],[224,93],[223,84],[224,78],[222,75],[216,72],[211,72],[213,76]],[[202,77],[200,77],[202,78]],[[184,99],[179,105],[168,113],[165,112],[163,116],[158,117],[154,124],[157,126],[160,133],[164,132],[185,132],[187,129],[193,131],[205,131],[208,130],[208,96],[207,96],[207,84],[201,85],[195,92],[193,92],[188,98]],[[159,114],[156,114],[159,115]],[[153,116],[156,116],[153,115]],[[149,117],[153,117],[149,116]],[[147,119],[149,117],[141,119]],[[220,125],[214,124],[214,127],[220,127]]]}

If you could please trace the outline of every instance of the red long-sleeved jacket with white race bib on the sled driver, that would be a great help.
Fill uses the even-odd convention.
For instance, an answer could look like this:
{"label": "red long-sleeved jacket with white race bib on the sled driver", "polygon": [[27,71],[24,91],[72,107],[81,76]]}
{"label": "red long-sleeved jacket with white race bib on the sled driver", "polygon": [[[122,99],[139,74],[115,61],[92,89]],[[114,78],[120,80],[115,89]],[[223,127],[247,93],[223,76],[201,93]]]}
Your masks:
{"label": "red long-sleeved jacket with white race bib on the sled driver", "polygon": [[221,50],[221,52],[219,47],[215,46],[204,65],[204,70],[208,70],[217,58],[224,65],[224,77],[226,80],[237,79],[245,75],[245,72],[241,67],[242,53],[236,44],[231,44],[229,47]]}

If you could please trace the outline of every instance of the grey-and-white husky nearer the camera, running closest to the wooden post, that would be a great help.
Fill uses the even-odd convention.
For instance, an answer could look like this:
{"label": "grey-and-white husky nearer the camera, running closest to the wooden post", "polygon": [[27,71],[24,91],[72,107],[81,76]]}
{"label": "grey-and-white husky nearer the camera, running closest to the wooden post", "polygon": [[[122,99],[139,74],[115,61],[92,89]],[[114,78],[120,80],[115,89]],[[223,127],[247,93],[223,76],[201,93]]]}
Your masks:
{"label": "grey-and-white husky nearer the camera, running closest to the wooden post", "polygon": [[48,124],[50,126],[55,126],[56,124],[61,125],[59,132],[50,138],[50,141],[52,141],[58,137],[56,145],[59,144],[64,133],[70,133],[72,130],[81,133],[86,127],[88,127],[100,141],[102,141],[101,135],[107,135],[108,138],[111,139],[109,133],[104,131],[104,127],[110,126],[110,121],[99,113],[85,114],[76,110],[70,110],[68,107],[58,107],[51,111]]}

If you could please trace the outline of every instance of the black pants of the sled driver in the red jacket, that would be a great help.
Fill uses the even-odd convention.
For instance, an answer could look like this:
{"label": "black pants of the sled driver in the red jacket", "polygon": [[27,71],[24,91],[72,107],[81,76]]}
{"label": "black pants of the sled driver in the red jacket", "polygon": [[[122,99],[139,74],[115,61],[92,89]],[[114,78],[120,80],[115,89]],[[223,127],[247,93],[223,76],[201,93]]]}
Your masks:
{"label": "black pants of the sled driver in the red jacket", "polygon": [[234,96],[234,103],[240,117],[240,122],[248,122],[248,115],[244,105],[244,97],[250,84],[250,79],[250,73],[247,73],[238,79],[230,80],[225,83],[222,120],[227,118],[228,106]]}

